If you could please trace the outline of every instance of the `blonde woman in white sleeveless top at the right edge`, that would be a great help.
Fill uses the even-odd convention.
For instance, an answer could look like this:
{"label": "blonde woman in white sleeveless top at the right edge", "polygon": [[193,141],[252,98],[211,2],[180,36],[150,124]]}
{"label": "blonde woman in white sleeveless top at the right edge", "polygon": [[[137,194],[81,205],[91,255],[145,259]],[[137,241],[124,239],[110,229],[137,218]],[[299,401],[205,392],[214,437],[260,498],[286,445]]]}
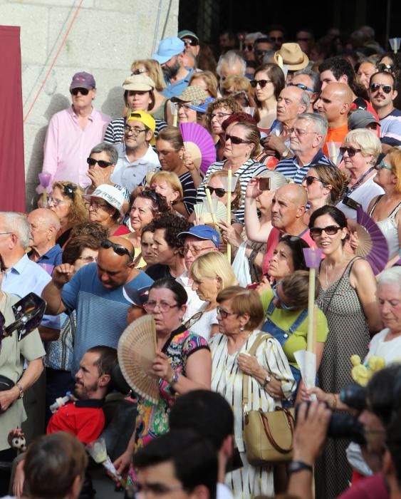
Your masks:
{"label": "blonde woman in white sleeveless top at the right edge", "polygon": [[401,150],[392,148],[376,165],[374,182],[385,191],[370,202],[368,213],[380,227],[387,240],[389,262],[392,267],[400,259],[401,247]]}

